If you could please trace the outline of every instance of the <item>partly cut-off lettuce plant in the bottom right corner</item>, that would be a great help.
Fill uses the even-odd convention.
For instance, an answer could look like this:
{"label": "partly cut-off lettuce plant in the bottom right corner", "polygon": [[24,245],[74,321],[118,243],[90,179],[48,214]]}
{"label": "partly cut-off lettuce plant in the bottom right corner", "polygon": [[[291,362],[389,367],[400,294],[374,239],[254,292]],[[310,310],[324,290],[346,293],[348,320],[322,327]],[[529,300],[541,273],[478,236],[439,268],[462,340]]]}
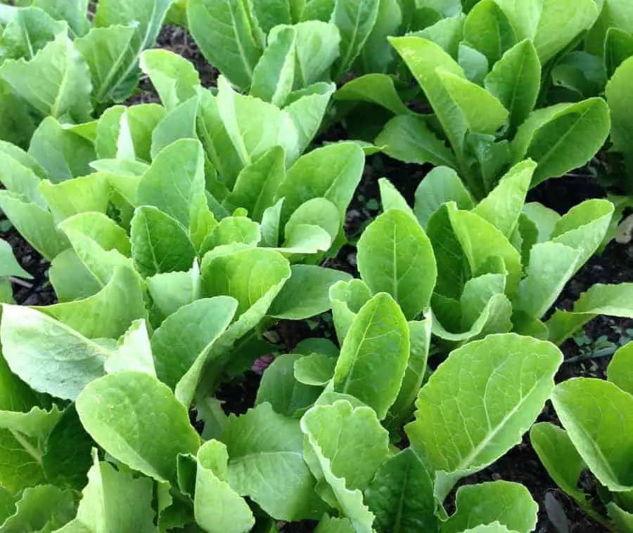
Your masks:
{"label": "partly cut-off lettuce plant in the bottom right corner", "polygon": [[[563,428],[538,423],[530,431],[556,484],[594,519],[620,533],[633,531],[632,348],[627,344],[615,353],[607,381],[577,378],[556,386],[551,400]],[[595,496],[579,487],[584,471],[596,478]],[[596,511],[600,501],[608,518]]]}

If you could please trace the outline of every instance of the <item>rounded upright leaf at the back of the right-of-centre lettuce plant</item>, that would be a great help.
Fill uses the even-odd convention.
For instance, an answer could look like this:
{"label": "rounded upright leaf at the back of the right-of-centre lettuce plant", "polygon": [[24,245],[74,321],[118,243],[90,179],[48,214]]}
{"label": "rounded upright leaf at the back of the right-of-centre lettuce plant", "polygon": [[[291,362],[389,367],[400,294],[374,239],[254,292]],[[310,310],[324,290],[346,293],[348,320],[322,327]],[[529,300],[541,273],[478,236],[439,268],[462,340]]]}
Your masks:
{"label": "rounded upright leaf at the back of the right-of-centre lettuce plant", "polygon": [[474,206],[470,193],[457,173],[446,166],[436,167],[416,189],[414,212],[420,225],[426,229],[433,213],[447,202],[455,202],[458,209],[464,210],[473,209]]}

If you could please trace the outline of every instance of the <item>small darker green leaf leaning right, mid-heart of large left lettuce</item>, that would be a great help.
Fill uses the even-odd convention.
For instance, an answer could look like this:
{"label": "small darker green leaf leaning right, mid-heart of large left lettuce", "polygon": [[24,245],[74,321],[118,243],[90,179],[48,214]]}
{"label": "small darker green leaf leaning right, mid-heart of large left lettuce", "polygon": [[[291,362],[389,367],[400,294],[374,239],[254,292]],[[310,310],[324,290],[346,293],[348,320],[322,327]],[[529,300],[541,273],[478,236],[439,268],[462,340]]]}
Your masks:
{"label": "small darker green leaf leaning right, mid-heart of large left lettuce", "polygon": [[261,222],[264,211],[274,203],[277,188],[286,178],[285,159],[283,149],[274,146],[245,166],[223,205],[229,211],[242,207],[250,218]]}

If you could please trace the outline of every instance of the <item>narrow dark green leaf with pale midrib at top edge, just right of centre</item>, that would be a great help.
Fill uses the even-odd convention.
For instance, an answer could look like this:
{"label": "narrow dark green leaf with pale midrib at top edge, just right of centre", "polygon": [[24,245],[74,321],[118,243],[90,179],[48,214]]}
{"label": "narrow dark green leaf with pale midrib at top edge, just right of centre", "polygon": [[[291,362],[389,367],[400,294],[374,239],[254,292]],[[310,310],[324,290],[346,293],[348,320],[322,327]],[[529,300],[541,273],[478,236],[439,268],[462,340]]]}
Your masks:
{"label": "narrow dark green leaf with pale midrib at top edge, just right of centre", "polygon": [[333,79],[340,80],[351,70],[371,35],[380,0],[338,0],[330,22],[340,32],[340,57],[334,65]]}

